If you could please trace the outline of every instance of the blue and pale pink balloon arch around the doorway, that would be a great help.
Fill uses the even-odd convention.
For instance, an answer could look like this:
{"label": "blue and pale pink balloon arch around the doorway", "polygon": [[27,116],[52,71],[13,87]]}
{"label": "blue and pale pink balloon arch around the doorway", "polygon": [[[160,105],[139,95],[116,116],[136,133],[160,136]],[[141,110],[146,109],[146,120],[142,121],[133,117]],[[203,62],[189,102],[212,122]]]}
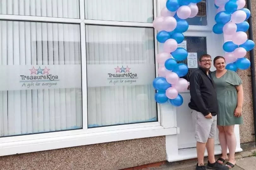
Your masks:
{"label": "blue and pale pink balloon arch around the doorway", "polygon": [[[188,29],[187,18],[193,18],[198,13],[201,0],[167,0],[166,7],[161,10],[161,16],[153,21],[158,31],[156,39],[163,44],[163,51],[156,56],[161,65],[158,69],[159,77],[153,81],[157,90],[155,101],[157,103],[170,102],[178,107],[183,103],[179,92],[187,89],[189,83],[180,78],[188,73],[184,63],[177,63],[187,58],[184,48],[178,47],[184,40],[183,32]],[[214,0],[216,7],[216,24],[213,32],[224,36],[223,50],[225,51],[226,69],[237,71],[247,69],[250,61],[245,58],[247,51],[254,48],[254,42],[247,39],[246,31],[249,24],[246,21],[251,13],[244,8],[245,0]]]}

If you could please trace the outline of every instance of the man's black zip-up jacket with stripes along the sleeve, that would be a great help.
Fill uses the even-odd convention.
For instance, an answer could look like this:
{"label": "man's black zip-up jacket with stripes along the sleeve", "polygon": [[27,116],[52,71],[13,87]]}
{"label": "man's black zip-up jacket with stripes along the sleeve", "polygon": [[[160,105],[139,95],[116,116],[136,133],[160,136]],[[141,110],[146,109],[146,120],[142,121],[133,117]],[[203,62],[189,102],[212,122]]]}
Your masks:
{"label": "man's black zip-up jacket with stripes along the sleeve", "polygon": [[189,108],[201,112],[204,116],[211,113],[217,114],[218,103],[215,85],[209,71],[209,77],[203,68],[194,71],[189,79],[190,83],[190,103]]}

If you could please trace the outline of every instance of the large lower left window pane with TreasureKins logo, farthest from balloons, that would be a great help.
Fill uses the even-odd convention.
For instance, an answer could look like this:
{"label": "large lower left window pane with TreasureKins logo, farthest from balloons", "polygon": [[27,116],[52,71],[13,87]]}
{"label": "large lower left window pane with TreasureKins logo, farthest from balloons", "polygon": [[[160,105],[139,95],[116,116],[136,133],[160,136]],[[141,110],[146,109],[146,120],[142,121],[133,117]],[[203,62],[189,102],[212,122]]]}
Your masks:
{"label": "large lower left window pane with TreasureKins logo, farthest from balloons", "polygon": [[0,79],[1,136],[81,128],[80,25],[0,21]]}

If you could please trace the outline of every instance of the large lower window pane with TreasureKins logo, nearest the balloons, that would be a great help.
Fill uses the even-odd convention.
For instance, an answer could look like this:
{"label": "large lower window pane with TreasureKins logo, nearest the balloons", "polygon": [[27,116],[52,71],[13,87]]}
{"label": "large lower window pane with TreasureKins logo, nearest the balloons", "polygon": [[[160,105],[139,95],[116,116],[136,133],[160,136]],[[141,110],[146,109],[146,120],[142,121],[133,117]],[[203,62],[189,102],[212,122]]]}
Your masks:
{"label": "large lower window pane with TreasureKins logo, nearest the balloons", "polygon": [[86,25],[88,127],[157,121],[153,28]]}

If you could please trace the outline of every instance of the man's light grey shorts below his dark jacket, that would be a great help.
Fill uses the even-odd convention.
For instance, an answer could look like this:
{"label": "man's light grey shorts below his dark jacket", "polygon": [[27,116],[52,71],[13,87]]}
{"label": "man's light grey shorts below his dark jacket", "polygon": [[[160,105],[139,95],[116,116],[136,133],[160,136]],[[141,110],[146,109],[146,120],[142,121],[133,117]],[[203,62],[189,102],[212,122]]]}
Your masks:
{"label": "man's light grey shorts below his dark jacket", "polygon": [[197,142],[206,143],[208,138],[215,138],[217,116],[207,119],[201,112],[192,110],[192,119],[195,126],[195,139]]}

